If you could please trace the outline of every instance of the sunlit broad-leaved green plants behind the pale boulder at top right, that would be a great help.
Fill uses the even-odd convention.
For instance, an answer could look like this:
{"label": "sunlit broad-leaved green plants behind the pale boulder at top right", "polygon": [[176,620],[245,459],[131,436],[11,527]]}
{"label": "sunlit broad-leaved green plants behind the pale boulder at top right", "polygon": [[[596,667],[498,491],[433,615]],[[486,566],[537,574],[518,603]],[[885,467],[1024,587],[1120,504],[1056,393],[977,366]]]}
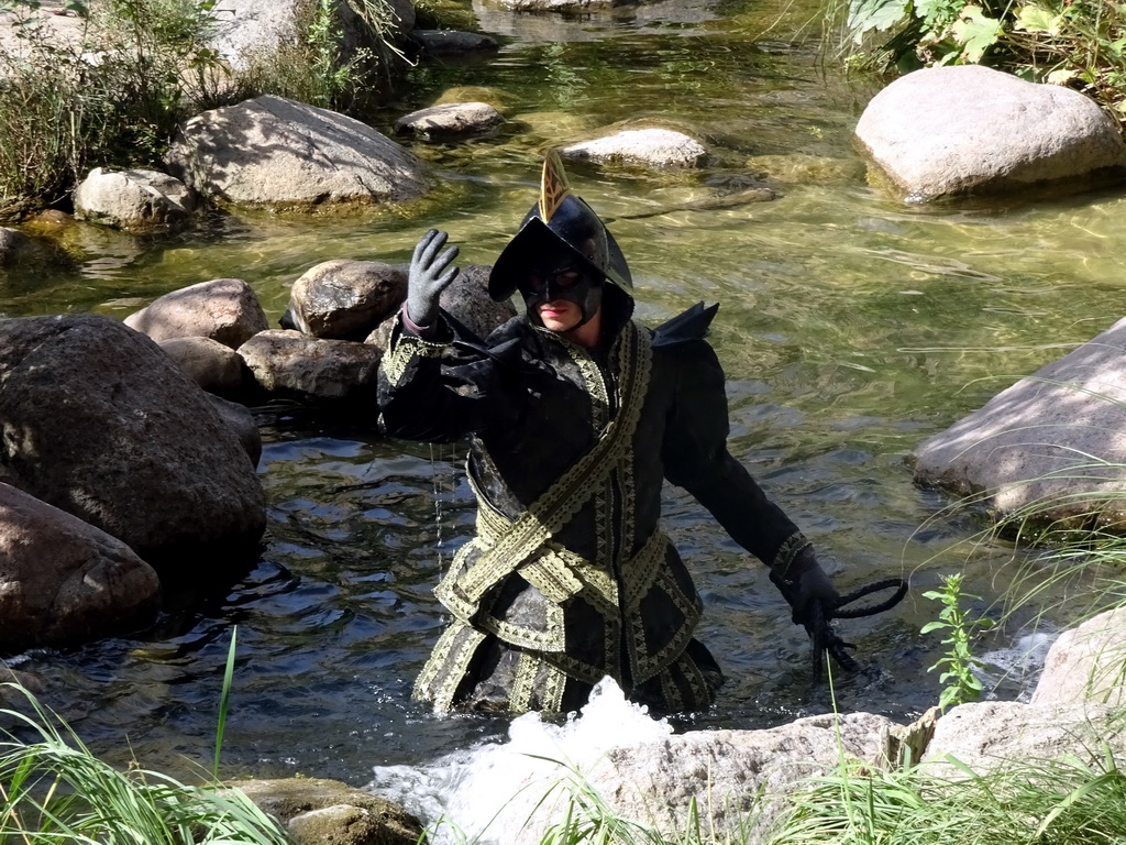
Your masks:
{"label": "sunlit broad-leaved green plants behind the pale boulder at top right", "polygon": [[906,72],[988,64],[1089,95],[1126,118],[1126,6],[1107,0],[831,0],[844,61]]}

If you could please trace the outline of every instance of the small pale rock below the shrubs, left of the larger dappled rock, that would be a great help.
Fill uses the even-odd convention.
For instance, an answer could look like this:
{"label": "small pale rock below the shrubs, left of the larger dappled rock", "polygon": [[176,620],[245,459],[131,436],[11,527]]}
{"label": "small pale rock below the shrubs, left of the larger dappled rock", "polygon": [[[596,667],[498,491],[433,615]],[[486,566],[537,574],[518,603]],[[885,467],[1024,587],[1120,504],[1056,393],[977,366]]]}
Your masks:
{"label": "small pale rock below the shrubs, left of the larger dappled rock", "polygon": [[74,190],[74,216],[117,229],[178,229],[191,220],[195,194],[155,170],[95,168]]}

